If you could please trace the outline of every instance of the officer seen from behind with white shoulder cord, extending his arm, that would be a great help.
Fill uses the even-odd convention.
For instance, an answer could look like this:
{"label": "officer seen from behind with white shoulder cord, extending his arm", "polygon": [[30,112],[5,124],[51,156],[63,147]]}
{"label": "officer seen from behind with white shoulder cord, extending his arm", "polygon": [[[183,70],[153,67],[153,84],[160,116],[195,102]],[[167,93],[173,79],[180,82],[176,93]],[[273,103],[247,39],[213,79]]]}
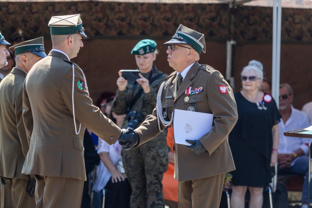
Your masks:
{"label": "officer seen from behind with white shoulder cord, extending his arm", "polygon": [[121,129],[89,97],[85,75],[70,60],[87,36],[80,14],[50,22],[53,49],[28,73],[23,119],[30,142],[22,173],[35,175],[37,208],[78,208],[85,175],[85,127],[112,144]]}

